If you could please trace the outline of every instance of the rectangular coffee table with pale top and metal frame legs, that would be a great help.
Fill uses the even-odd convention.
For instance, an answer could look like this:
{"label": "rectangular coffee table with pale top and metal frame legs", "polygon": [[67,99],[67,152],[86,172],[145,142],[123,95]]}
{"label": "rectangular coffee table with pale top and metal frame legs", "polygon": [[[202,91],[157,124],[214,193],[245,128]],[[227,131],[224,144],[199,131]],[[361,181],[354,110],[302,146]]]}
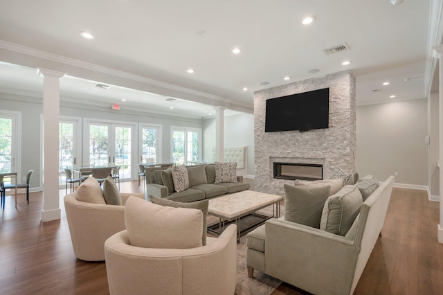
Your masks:
{"label": "rectangular coffee table with pale top and metal frame legs", "polygon": [[[226,221],[235,221],[235,224],[237,225],[237,240],[239,240],[242,232],[255,228],[257,225],[262,224],[271,217],[280,217],[280,201],[282,201],[282,199],[283,197],[281,195],[271,195],[268,193],[255,192],[253,190],[243,190],[223,197],[209,199],[208,215],[219,217],[218,234],[224,230]],[[271,205],[273,206],[272,216],[255,213],[256,211]],[[262,220],[249,226],[247,229],[240,231],[240,218],[251,214],[262,217]],[[217,231],[211,229],[211,226],[208,227],[208,231],[217,233]]]}

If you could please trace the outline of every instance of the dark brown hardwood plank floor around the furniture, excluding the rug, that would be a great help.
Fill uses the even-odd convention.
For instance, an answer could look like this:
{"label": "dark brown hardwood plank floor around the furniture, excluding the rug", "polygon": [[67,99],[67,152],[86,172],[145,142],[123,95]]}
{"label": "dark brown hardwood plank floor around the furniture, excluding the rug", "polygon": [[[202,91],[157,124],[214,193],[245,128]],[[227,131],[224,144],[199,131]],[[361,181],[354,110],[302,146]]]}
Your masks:
{"label": "dark brown hardwood plank floor around the furniture, excluding the rug", "polygon": [[[142,192],[137,181],[121,191]],[[60,190],[60,204],[64,190]],[[109,294],[104,262],[75,258],[66,216],[42,223],[42,193],[6,197],[0,213],[0,294]],[[424,190],[394,188],[382,236],[354,294],[443,294],[439,204]],[[321,270],[319,270],[321,271]],[[282,283],[273,295],[306,294]]]}

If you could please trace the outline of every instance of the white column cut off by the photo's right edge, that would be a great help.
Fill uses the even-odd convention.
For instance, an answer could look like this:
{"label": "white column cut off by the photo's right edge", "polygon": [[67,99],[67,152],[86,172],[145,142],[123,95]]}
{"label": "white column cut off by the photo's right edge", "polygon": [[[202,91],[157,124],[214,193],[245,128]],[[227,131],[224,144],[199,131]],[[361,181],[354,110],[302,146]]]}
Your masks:
{"label": "white column cut off by the photo's right edge", "polygon": [[[438,154],[440,163],[443,159],[443,62],[442,62],[442,53],[443,53],[443,45],[439,45],[435,47],[435,51],[438,53],[439,58],[439,78],[438,78],[438,89],[439,89],[439,128],[438,128],[438,134],[440,136],[439,138],[439,147],[438,147]],[[443,192],[443,173],[441,172],[440,167],[440,224],[437,226],[437,239],[439,243],[443,244],[443,200],[442,200],[442,192]]]}

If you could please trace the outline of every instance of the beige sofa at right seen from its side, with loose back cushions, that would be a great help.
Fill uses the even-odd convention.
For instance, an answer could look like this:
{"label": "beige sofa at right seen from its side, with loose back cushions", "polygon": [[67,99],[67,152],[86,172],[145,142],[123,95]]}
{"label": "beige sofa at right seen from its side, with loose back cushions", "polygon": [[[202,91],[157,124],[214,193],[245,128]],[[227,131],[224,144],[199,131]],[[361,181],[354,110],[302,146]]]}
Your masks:
{"label": "beige sofa at right seen from its side, with loose back cushions", "polygon": [[[378,187],[363,178],[354,186],[344,186],[338,198],[326,196],[321,218],[314,221],[320,229],[285,217],[267,220],[246,238],[249,276],[253,277],[256,269],[312,294],[352,294],[381,234],[393,184],[393,176]],[[310,199],[309,206],[314,206],[314,201]],[[353,206],[358,206],[357,210]],[[331,224],[335,217],[325,217],[332,209],[341,212],[338,218],[342,221],[335,228]],[[305,220],[313,222],[309,218]]]}

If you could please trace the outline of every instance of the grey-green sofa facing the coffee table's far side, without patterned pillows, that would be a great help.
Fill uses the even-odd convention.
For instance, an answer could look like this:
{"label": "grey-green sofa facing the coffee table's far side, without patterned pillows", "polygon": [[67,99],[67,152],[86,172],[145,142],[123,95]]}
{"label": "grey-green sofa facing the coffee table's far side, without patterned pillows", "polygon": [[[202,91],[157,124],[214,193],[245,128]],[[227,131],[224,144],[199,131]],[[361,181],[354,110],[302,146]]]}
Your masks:
{"label": "grey-green sofa facing the coffee table's far side, without patterned pillows", "polygon": [[175,191],[171,168],[146,168],[147,195],[176,202],[195,202],[228,193],[248,190],[250,185],[237,176],[237,182],[215,183],[215,165],[187,166],[189,188]]}

